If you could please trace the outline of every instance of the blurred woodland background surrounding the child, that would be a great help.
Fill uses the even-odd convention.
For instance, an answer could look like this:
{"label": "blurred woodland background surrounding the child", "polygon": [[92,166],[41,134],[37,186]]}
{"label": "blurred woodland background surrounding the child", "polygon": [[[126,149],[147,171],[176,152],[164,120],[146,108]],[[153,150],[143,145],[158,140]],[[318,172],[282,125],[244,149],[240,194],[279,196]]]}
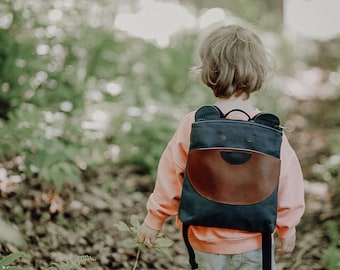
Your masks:
{"label": "blurred woodland background surrounding the child", "polygon": [[[2,0],[1,257],[24,251],[16,263],[40,269],[88,254],[84,269],[129,269],[135,249],[112,224],[143,218],[178,121],[214,101],[193,71],[200,40],[240,23],[275,62],[254,103],[280,115],[306,179],[300,240],[278,269],[339,269],[339,10],[339,0]],[[140,269],[185,269],[176,237],[173,263],[144,255]]]}

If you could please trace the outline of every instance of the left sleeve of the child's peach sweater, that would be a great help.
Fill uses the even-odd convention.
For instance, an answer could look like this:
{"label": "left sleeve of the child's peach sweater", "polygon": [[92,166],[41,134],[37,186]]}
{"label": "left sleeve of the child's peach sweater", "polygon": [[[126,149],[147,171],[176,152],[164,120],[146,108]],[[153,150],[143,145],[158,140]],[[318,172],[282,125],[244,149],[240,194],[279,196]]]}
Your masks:
{"label": "left sleeve of the child's peach sweater", "polygon": [[182,119],[160,158],[156,184],[148,199],[148,213],[144,220],[154,230],[160,230],[166,218],[178,214],[193,121],[193,113]]}

